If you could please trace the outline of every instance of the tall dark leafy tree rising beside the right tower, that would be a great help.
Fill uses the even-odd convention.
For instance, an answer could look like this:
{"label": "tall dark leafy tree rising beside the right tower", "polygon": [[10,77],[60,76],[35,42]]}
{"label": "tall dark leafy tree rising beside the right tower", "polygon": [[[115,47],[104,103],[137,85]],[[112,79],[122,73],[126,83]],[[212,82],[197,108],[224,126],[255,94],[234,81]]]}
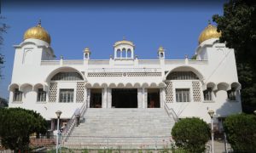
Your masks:
{"label": "tall dark leafy tree rising beside the right tower", "polygon": [[215,14],[212,19],[222,32],[219,41],[235,49],[243,111],[253,113],[256,109],[256,1],[230,0],[224,4],[224,14]]}

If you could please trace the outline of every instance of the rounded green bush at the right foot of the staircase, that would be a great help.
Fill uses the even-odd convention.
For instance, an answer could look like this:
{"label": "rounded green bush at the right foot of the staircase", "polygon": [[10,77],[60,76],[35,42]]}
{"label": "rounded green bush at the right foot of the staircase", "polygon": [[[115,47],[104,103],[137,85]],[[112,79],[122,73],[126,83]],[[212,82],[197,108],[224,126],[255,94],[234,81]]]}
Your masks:
{"label": "rounded green bush at the right foot of the staircase", "polygon": [[210,134],[207,122],[196,117],[182,119],[172,127],[175,144],[188,152],[203,152]]}

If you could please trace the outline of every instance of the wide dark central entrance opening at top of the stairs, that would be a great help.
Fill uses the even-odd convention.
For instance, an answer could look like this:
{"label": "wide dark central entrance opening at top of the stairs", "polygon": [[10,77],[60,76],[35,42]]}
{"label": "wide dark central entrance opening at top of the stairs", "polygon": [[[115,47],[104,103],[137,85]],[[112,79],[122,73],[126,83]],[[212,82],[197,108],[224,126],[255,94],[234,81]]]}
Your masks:
{"label": "wide dark central entrance opening at top of the stairs", "polygon": [[112,107],[137,108],[137,88],[113,88]]}

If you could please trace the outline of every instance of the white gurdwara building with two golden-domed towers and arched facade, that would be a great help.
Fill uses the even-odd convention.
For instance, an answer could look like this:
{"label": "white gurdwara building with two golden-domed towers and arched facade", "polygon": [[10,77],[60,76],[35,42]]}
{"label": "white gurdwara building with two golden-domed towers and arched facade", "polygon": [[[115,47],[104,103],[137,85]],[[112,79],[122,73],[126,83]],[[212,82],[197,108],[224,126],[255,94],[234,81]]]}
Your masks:
{"label": "white gurdwara building with two golden-domed towers and arched facade", "polygon": [[90,59],[85,48],[84,59],[56,60],[49,33],[39,23],[15,45],[9,107],[40,112],[51,129],[55,111],[62,112],[61,121],[67,124],[77,108],[99,114],[128,108],[172,110],[173,117],[196,116],[206,122],[212,110],[218,125],[225,116],[241,112],[234,49],[218,42],[219,37],[209,24],[201,32],[195,59],[165,59],[162,47],[155,51],[156,59],[138,59],[134,43],[122,40],[113,44],[110,59]]}

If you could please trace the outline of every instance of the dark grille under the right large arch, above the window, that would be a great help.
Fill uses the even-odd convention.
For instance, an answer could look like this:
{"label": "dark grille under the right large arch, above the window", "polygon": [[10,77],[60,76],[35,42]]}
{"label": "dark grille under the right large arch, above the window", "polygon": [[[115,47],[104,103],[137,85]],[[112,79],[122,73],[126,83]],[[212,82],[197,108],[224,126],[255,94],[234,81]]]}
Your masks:
{"label": "dark grille under the right large arch, above the window", "polygon": [[172,71],[167,80],[199,80],[193,71]]}

